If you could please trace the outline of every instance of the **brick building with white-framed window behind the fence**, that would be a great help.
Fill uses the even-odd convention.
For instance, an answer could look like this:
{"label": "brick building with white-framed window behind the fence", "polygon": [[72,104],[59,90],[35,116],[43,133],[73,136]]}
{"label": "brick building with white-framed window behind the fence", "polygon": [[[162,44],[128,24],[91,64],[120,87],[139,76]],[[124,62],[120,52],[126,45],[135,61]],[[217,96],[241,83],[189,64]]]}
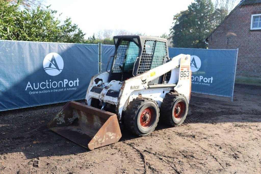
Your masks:
{"label": "brick building with white-framed window behind the fence", "polygon": [[236,49],[237,76],[261,77],[261,0],[242,0],[206,38],[209,49]]}

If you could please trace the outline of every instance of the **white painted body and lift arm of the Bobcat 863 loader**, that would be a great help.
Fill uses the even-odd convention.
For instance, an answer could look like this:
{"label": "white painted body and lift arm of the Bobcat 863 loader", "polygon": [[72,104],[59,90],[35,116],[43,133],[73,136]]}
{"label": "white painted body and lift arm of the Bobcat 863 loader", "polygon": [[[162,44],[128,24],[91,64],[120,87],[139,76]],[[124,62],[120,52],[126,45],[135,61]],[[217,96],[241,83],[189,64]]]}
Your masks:
{"label": "white painted body and lift arm of the Bobcat 863 loader", "polygon": [[[148,82],[156,79],[163,74],[171,71],[171,77],[168,84],[176,83],[175,88],[148,88]],[[183,72],[189,71],[186,74],[186,77],[183,77]],[[129,78],[122,83],[120,81],[112,80],[107,82],[109,77],[108,72],[103,72],[93,76],[86,93],[87,104],[91,104],[92,98],[97,98],[100,101],[108,102],[110,104],[116,105],[116,114],[121,118],[122,111],[124,111],[134,98],[137,98],[139,95],[143,97],[148,97],[155,100],[159,107],[165,97],[165,94],[170,90],[175,90],[179,94],[183,94],[187,101],[190,100],[191,93],[191,71],[190,71],[190,55],[180,54],[173,57],[169,62],[164,63],[156,68],[153,68],[145,73],[139,74],[135,77]],[[102,79],[102,80],[97,80]],[[93,86],[100,86],[102,92],[97,94],[91,92]],[[106,93],[109,89],[120,91],[120,94],[117,98],[106,96]]]}

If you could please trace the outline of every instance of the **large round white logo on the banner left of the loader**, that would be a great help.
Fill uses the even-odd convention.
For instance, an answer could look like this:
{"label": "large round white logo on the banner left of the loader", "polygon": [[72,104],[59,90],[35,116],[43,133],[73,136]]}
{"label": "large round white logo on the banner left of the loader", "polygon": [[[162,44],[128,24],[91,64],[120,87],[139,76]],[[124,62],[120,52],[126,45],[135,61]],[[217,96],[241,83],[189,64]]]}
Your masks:
{"label": "large round white logo on the banner left of the loader", "polygon": [[63,70],[63,58],[57,53],[49,53],[44,57],[43,67],[50,76],[57,76]]}

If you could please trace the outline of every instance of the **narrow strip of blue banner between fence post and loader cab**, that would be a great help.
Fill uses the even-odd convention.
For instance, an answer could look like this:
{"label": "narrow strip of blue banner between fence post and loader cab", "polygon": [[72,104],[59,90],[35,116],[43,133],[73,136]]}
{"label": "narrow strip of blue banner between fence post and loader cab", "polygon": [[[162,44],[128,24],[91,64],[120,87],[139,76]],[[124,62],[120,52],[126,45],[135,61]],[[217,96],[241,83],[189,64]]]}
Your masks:
{"label": "narrow strip of blue banner between fence post and loader cab", "polygon": [[[106,71],[110,56],[114,55],[114,51],[115,51],[115,46],[114,45],[102,45],[102,68],[101,68],[101,72]],[[110,61],[110,64],[108,66],[108,69],[110,69],[111,67],[111,62],[112,62],[112,58]]]}

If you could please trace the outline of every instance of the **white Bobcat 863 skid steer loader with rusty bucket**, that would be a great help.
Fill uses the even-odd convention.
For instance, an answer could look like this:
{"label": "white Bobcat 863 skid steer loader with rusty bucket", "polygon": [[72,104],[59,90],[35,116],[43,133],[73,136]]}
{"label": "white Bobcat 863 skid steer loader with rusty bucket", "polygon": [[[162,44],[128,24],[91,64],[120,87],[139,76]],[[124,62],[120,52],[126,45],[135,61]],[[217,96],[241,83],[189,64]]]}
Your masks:
{"label": "white Bobcat 863 skid steer loader with rusty bucket", "polygon": [[[68,102],[49,129],[89,149],[119,141],[121,128],[150,134],[160,119],[183,123],[191,94],[190,55],[168,56],[167,39],[114,36],[105,72],[92,77],[86,105]],[[112,61],[111,61],[112,58]]]}

